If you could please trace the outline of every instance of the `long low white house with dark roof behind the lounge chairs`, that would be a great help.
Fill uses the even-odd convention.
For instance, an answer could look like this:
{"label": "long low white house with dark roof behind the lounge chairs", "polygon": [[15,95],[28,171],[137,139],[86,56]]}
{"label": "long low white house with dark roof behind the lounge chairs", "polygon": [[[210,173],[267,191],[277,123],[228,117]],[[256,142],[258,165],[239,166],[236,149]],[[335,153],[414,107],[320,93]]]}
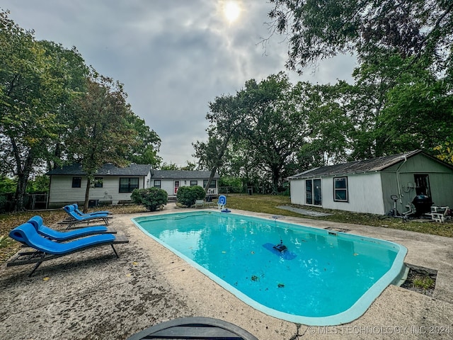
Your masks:
{"label": "long low white house with dark roof behind the lounge chairs", "polygon": [[[48,208],[61,208],[71,203],[83,205],[87,179],[80,164],[62,166],[47,172],[47,175],[50,176]],[[152,186],[164,189],[168,193],[168,199],[176,199],[176,191],[180,186],[203,186],[209,176],[210,171],[152,170],[149,164],[130,164],[125,167],[105,164],[94,176],[88,203],[89,205],[129,203],[130,195],[135,188]],[[216,174],[208,195],[217,196],[218,179],[219,175]]]}

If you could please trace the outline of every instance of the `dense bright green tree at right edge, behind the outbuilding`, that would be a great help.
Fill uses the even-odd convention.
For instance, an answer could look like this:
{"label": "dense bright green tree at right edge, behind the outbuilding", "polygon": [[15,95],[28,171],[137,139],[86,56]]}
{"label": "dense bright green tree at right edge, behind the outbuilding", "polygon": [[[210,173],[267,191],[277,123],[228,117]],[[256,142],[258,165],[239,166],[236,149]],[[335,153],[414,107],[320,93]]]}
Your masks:
{"label": "dense bright green tree at right edge, behind the outbuilding", "polygon": [[377,120],[377,139],[383,154],[411,149],[429,152],[453,135],[453,95],[445,81],[426,69],[405,72],[386,94]]}

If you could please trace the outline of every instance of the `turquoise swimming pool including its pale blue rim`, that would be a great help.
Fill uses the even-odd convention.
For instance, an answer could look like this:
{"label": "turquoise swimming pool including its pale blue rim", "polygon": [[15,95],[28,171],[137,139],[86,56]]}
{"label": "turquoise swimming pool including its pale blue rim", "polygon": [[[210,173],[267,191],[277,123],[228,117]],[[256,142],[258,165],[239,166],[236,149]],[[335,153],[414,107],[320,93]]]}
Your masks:
{"label": "turquoise swimming pool including its pale blue rim", "polygon": [[[132,221],[248,305],[309,325],[360,317],[398,278],[407,252],[381,239],[231,213]],[[281,254],[272,248],[280,239],[287,246]]]}

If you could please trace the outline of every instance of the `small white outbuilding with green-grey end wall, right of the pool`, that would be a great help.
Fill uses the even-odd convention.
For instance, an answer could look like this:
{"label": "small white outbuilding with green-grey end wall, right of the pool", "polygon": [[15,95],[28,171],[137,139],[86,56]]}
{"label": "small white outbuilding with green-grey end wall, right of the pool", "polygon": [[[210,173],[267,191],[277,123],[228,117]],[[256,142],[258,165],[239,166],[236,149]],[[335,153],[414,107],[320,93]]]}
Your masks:
{"label": "small white outbuilding with green-grey end wall, right of the pool", "polygon": [[384,215],[404,212],[415,196],[453,207],[453,166],[421,150],[321,166],[289,177],[291,203]]}

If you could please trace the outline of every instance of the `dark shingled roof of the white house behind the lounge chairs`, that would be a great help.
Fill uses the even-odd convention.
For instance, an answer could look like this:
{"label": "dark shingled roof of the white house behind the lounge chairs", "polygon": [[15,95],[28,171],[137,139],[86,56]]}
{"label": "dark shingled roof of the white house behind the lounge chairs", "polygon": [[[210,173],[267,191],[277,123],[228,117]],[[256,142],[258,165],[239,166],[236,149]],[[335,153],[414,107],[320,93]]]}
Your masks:
{"label": "dark shingled roof of the white house behind the lounge chairs", "polygon": [[[151,170],[150,164],[130,164],[125,167],[118,167],[113,164],[105,164],[95,175],[98,176],[147,176]],[[65,165],[55,168],[47,175],[79,175],[85,176],[86,172],[82,171],[81,164]]]}

